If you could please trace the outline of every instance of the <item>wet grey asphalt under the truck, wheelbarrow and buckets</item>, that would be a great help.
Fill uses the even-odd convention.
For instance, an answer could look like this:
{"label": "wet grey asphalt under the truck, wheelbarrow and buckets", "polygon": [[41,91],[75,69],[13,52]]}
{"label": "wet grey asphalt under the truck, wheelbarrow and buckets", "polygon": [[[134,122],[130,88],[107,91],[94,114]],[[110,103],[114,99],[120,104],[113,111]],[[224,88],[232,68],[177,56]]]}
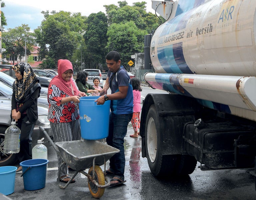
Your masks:
{"label": "wet grey asphalt under the truck, wheelbarrow and buckets", "polygon": [[[147,159],[141,157],[141,137],[131,138],[132,126],[129,124],[125,137],[125,180],[120,186],[108,187],[100,199],[106,200],[250,200],[256,199],[252,169],[228,169],[201,171],[198,163],[189,176],[173,179],[153,177]],[[43,189],[27,191],[24,189],[21,172],[16,173],[15,190],[8,198],[13,200],[83,200],[94,199],[89,191],[87,177],[78,173],[76,182],[61,189],[57,182],[57,156],[52,146],[48,147],[48,168],[46,185]],[[107,162],[107,167],[108,167]],[[104,166],[101,166],[104,169]],[[88,170],[86,170],[88,172]],[[73,175],[70,171],[69,175]],[[109,176],[111,178],[111,176]],[[1,199],[1,198],[0,198]]]}

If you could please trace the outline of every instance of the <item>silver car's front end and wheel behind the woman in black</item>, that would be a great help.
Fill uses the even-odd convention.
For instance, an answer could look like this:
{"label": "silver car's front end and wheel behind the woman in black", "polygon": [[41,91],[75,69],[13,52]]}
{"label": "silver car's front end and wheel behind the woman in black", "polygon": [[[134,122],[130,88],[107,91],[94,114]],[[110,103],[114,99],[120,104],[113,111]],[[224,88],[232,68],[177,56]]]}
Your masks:
{"label": "silver car's front end and wheel behind the woman in black", "polygon": [[[44,133],[39,129],[42,126],[48,135],[52,137],[50,122],[47,119],[48,106],[38,103],[38,120],[32,133],[32,147],[37,144],[37,140],[45,137]],[[4,133],[5,130],[11,125],[11,99],[0,97],[0,166],[14,165],[17,161],[17,154],[5,154],[4,147]],[[44,139],[46,146],[49,143]]]}

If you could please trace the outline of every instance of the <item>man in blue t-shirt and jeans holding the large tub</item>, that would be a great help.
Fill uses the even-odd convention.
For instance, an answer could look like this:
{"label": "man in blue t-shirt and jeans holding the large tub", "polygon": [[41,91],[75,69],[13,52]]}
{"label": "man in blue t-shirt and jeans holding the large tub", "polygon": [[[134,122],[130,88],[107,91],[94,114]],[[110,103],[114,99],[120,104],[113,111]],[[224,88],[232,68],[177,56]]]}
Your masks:
{"label": "man in blue t-shirt and jeans holding the large tub", "polygon": [[[120,150],[110,158],[109,169],[106,174],[113,174],[110,185],[119,185],[124,182],[124,137],[127,133],[128,123],[133,114],[133,92],[131,79],[121,65],[120,54],[117,51],[110,51],[106,56],[108,67],[108,78],[100,92],[100,97],[96,100],[97,105],[102,105],[107,100],[110,103],[109,134],[106,139],[107,144]],[[108,88],[111,94],[107,94]],[[103,95],[103,96],[102,96]]]}

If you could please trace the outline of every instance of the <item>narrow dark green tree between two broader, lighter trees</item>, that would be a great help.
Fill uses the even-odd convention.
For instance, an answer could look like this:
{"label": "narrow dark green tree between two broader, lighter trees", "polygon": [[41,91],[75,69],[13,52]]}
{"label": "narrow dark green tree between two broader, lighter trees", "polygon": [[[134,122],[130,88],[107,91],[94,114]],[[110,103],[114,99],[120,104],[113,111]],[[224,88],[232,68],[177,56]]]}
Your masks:
{"label": "narrow dark green tree between two broader, lighter trees", "polygon": [[87,18],[87,29],[83,35],[90,59],[89,68],[99,69],[105,62],[107,45],[107,17],[103,12],[92,13]]}

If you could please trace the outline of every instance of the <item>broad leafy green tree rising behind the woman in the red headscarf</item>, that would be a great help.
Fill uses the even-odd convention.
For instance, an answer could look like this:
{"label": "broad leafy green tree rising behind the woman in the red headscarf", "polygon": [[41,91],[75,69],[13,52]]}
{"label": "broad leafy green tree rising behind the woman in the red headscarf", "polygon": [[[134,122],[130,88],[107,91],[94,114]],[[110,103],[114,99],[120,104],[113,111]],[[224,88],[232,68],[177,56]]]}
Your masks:
{"label": "broad leafy green tree rising behind the woman in the red headscarf", "polygon": [[[79,46],[79,32],[82,32],[85,26],[86,17],[81,13],[55,11],[49,14],[49,11],[42,12],[45,20],[41,26],[35,30],[37,42],[40,46],[39,58],[51,58],[55,62],[55,68],[59,59],[68,59],[71,62],[73,54]],[[47,62],[47,61],[44,61]],[[51,63],[51,62],[49,62]]]}

